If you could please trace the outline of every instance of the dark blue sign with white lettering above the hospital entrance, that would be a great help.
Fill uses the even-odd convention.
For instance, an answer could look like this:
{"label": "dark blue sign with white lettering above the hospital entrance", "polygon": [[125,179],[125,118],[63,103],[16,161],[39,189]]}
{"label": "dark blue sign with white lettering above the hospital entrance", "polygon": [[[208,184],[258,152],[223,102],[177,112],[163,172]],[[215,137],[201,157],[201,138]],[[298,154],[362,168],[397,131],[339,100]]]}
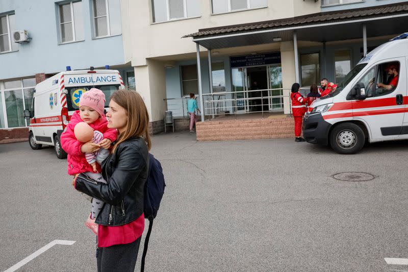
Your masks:
{"label": "dark blue sign with white lettering above the hospital entrance", "polygon": [[281,63],[281,52],[231,57],[231,68]]}

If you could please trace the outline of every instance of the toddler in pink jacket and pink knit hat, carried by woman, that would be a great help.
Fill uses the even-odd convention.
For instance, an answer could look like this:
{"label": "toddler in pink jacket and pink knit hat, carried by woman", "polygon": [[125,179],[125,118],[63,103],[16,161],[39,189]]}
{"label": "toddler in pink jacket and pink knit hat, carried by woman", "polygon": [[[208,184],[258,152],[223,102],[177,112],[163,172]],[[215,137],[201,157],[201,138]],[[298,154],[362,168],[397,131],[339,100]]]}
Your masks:
{"label": "toddler in pink jacket and pink knit hat, carried by woman", "polygon": [[[61,146],[68,154],[68,174],[85,173],[93,180],[107,183],[100,174],[100,165],[109,156],[109,148],[111,143],[116,140],[117,131],[108,128],[108,120],[104,114],[105,94],[99,89],[92,88],[81,95],[79,105],[80,110],[74,112],[65,131],[61,134]],[[87,123],[93,129],[92,142],[101,146],[99,151],[95,153],[81,152],[81,146],[84,143],[79,141],[74,133],[75,126],[80,122]],[[81,123],[80,125],[85,124]],[[76,130],[78,131],[79,128],[81,126],[78,126]],[[97,217],[103,205],[102,201],[92,199],[92,219]]]}

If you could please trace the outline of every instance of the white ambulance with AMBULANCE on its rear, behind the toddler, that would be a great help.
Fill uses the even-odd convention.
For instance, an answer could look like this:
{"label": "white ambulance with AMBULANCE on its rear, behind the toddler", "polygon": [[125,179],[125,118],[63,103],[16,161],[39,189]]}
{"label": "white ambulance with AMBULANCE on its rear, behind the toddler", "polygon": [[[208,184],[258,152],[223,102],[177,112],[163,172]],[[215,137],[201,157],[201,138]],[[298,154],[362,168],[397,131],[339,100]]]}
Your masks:
{"label": "white ambulance with AMBULANCE on its rear, behind the toddler", "polygon": [[43,144],[51,145],[58,158],[66,158],[67,154],[61,148],[61,133],[71,115],[79,109],[81,95],[91,88],[105,93],[105,108],[108,108],[111,94],[123,89],[124,85],[117,70],[95,70],[91,67],[89,70],[71,71],[69,66],[67,71],[37,84],[32,110],[24,111],[24,118],[30,119],[29,143],[32,149],[40,149]]}

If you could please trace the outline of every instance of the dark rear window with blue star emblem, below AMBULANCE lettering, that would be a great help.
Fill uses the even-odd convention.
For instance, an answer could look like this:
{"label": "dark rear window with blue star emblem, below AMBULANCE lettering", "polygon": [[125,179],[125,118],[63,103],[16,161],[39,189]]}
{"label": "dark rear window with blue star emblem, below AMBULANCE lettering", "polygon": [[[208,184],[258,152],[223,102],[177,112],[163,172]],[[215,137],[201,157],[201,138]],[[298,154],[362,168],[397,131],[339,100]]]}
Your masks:
{"label": "dark rear window with blue star emblem, below AMBULANCE lettering", "polygon": [[68,93],[67,97],[67,107],[68,111],[75,111],[79,109],[80,104],[80,97],[81,95],[90,90],[91,88],[98,88],[99,90],[103,91],[105,94],[105,108],[109,107],[109,102],[111,95],[114,91],[119,89],[118,85],[99,85],[99,86],[75,86],[75,87],[66,87]]}

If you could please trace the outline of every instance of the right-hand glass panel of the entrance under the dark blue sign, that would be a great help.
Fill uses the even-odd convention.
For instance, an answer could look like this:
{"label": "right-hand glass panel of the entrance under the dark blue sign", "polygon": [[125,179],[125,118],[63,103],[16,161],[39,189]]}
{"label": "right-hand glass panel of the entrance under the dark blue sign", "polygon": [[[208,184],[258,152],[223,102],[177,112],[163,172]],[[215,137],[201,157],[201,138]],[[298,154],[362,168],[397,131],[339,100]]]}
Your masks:
{"label": "right-hand glass panel of the entrance under the dark blue sign", "polygon": [[[268,66],[268,89],[269,96],[283,95],[282,90],[282,67],[281,64]],[[281,89],[281,90],[273,90]],[[269,110],[283,110],[284,99],[283,97],[269,98]]]}

